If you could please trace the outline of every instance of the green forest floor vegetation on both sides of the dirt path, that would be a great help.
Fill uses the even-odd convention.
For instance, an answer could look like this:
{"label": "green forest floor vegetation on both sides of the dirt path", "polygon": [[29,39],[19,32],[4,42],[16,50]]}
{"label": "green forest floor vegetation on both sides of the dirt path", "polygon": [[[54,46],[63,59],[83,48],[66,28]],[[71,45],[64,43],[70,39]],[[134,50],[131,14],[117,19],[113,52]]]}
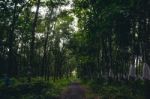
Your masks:
{"label": "green forest floor vegetation on both sides of the dirt path", "polygon": [[[5,86],[0,80],[0,99],[59,99],[62,91],[72,82],[72,79],[43,81],[34,78],[28,83],[26,79],[11,79],[11,84]],[[81,81],[86,89],[87,99],[144,99],[143,82]]]}

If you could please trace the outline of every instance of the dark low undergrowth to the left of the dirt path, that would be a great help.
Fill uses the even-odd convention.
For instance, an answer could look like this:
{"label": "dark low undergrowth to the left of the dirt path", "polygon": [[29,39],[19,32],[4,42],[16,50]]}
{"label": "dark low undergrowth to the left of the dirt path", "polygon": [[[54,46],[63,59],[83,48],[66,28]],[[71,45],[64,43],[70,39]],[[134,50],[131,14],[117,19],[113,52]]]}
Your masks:
{"label": "dark low undergrowth to the left of the dirt path", "polygon": [[19,82],[9,87],[3,84],[0,85],[0,99],[57,99],[58,90],[54,83],[40,80],[31,83]]}

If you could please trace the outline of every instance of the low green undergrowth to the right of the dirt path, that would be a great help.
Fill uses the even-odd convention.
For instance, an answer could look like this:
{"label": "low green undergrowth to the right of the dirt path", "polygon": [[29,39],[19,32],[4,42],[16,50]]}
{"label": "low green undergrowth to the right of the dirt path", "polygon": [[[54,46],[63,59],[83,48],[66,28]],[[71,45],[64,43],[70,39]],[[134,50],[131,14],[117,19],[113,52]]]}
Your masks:
{"label": "low green undergrowth to the right of the dirt path", "polygon": [[91,86],[92,92],[100,96],[100,99],[144,99],[143,81],[100,84],[90,81],[88,86]]}

